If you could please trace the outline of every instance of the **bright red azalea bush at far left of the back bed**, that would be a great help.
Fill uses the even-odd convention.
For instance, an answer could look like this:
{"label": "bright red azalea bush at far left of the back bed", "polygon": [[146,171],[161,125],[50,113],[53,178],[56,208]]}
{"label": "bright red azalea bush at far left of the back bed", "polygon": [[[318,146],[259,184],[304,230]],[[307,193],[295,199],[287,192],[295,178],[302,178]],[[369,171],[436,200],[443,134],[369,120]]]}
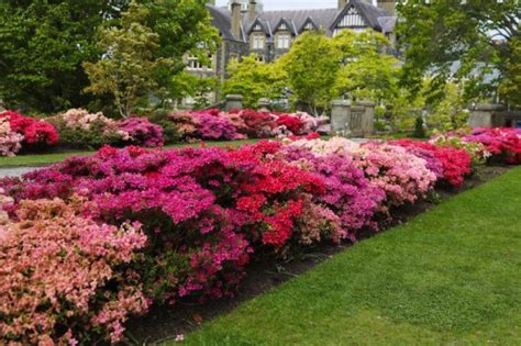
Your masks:
{"label": "bright red azalea bush at far left of the back bed", "polygon": [[[0,119],[8,120],[10,131],[23,136],[23,148],[31,149],[32,147],[47,147],[58,143],[58,132],[48,122],[24,116],[13,111],[0,112]],[[3,133],[5,133],[5,129],[3,130]],[[13,136],[10,136],[10,138],[11,139],[8,139],[8,142],[12,142]],[[8,152],[14,154],[13,150]]]}

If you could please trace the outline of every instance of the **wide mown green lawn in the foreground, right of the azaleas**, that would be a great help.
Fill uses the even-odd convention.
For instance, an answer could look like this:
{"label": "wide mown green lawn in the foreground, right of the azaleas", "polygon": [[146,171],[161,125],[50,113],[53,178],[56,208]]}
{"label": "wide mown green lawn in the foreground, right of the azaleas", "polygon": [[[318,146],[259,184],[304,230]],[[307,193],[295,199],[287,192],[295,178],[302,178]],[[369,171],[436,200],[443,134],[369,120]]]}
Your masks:
{"label": "wide mown green lawn in the foreground, right of the azaleas", "polygon": [[521,167],[242,304],[187,344],[520,345]]}

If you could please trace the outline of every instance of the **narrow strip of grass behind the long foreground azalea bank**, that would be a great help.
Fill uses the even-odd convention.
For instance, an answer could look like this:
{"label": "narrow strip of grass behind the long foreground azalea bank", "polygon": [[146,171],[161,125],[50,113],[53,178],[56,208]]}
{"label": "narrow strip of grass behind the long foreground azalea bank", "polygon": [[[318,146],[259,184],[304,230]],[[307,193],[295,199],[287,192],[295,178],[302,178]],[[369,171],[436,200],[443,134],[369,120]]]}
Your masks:
{"label": "narrow strip of grass behind the long foreground azalea bank", "polygon": [[[207,146],[221,146],[221,147],[239,147],[243,144],[255,143],[258,139],[245,139],[245,141],[232,141],[232,142],[204,142]],[[173,147],[198,147],[200,143],[195,144],[173,144],[165,146],[166,148]],[[33,166],[45,166],[65,160],[71,156],[87,156],[92,155],[91,152],[68,152],[57,154],[34,154],[34,155],[20,155],[16,157],[0,157],[0,168],[7,167],[33,167]]]}

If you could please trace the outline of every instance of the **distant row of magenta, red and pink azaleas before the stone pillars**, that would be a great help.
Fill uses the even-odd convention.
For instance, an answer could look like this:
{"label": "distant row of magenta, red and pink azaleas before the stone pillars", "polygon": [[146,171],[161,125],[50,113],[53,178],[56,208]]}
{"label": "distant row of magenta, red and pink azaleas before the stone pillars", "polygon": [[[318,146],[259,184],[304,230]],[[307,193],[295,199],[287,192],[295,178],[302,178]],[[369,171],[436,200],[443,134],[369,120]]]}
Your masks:
{"label": "distant row of magenta, red and pink azaleas before the stone pillars", "polygon": [[254,110],[174,112],[169,121],[185,139],[242,139],[308,135],[319,131],[326,119],[308,113],[278,114]]}

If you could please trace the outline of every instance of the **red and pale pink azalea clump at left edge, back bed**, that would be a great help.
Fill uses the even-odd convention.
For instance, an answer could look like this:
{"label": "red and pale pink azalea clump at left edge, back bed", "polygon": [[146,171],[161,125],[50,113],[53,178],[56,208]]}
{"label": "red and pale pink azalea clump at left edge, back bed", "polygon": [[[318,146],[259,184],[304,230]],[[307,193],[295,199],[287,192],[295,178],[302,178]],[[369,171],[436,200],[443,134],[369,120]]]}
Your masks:
{"label": "red and pale pink azalea clump at left edge, back bed", "polygon": [[18,112],[0,112],[0,154],[14,156],[22,147],[51,146],[58,143],[56,129],[42,120]]}

